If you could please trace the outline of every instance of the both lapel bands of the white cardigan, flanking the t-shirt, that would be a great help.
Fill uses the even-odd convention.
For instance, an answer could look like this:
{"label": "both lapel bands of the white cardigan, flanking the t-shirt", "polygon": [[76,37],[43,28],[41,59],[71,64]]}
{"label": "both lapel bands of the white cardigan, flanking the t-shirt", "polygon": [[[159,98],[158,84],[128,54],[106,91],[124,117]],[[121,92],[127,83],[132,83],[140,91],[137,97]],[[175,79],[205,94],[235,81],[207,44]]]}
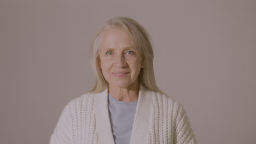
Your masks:
{"label": "both lapel bands of the white cardigan, flanking the t-shirt", "polygon": [[[136,107],[135,118],[132,125],[130,143],[146,143],[148,137],[148,119],[150,115],[150,104],[152,93],[139,85],[139,97]],[[108,89],[95,94],[94,112],[96,117],[96,131],[100,143],[115,143],[108,112]]]}

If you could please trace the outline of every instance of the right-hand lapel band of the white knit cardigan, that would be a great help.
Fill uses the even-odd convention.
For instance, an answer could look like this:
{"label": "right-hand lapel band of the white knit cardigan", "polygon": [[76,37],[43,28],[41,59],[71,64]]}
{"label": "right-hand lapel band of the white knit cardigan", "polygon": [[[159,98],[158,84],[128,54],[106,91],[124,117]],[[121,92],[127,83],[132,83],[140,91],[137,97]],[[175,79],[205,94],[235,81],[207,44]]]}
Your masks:
{"label": "right-hand lapel band of the white knit cardigan", "polygon": [[152,93],[147,91],[140,84],[139,97],[136,107],[135,118],[132,126],[132,135],[130,143],[146,143],[149,128],[150,105],[152,103]]}

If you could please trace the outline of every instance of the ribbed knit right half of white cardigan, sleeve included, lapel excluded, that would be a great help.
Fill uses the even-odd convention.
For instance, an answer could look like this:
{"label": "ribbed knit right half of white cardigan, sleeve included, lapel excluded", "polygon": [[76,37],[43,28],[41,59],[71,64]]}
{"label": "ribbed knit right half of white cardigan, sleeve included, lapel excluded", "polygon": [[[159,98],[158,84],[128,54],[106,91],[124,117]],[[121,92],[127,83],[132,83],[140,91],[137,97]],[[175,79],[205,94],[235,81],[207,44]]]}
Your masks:
{"label": "ribbed knit right half of white cardigan, sleeve included, lapel excluded", "polygon": [[149,118],[149,143],[196,143],[183,105],[166,95],[154,92]]}

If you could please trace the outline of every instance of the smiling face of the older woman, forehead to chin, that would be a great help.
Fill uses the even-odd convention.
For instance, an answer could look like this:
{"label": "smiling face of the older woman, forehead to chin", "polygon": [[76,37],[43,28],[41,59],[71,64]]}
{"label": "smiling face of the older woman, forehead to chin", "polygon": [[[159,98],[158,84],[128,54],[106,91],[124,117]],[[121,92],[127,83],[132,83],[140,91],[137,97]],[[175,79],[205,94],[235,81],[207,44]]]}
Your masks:
{"label": "smiling face of the older woman, forehead to chin", "polygon": [[138,83],[141,61],[130,35],[121,28],[111,28],[102,35],[100,67],[110,87],[128,88]]}

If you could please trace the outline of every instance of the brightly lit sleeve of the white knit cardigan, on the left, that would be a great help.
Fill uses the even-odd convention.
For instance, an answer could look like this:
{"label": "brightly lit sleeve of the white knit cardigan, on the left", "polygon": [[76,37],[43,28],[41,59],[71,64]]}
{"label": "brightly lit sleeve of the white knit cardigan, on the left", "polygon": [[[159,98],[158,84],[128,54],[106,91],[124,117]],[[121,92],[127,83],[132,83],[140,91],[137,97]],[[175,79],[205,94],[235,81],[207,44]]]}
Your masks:
{"label": "brightly lit sleeve of the white knit cardigan, on the left", "polygon": [[71,113],[69,105],[66,105],[61,112],[59,121],[56,124],[53,134],[50,137],[50,144],[71,143]]}

